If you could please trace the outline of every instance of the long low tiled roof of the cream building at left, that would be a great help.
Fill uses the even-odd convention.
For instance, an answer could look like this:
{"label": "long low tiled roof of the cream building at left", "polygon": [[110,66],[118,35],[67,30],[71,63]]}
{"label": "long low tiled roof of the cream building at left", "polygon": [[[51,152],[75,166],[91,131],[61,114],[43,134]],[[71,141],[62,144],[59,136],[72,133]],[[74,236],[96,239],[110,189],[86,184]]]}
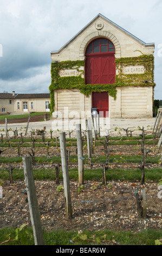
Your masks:
{"label": "long low tiled roof of the cream building at left", "polygon": [[0,99],[44,99],[50,98],[49,93],[29,93],[29,94],[16,94],[0,93]]}

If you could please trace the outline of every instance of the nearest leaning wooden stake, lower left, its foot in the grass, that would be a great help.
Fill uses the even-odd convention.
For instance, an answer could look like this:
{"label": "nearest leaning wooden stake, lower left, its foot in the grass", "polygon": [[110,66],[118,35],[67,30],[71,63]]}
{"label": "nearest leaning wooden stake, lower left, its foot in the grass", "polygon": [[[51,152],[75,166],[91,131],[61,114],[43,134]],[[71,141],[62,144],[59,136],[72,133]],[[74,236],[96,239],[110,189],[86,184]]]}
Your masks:
{"label": "nearest leaning wooden stake, lower left, its foot in the grass", "polygon": [[33,227],[35,245],[44,245],[43,230],[34,184],[33,167],[29,156],[23,157],[25,184],[28,196],[31,224]]}

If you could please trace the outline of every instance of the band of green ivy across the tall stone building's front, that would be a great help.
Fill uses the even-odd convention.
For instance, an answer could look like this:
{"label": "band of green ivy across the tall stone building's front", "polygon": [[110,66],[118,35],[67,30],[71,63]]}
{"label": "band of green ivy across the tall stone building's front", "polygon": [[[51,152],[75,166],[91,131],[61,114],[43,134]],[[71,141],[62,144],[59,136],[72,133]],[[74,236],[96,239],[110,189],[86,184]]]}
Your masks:
{"label": "band of green ivy across the tall stone building's front", "polygon": [[[85,66],[83,60],[51,63],[51,84],[50,92],[50,113],[54,109],[54,90],[57,89],[79,89],[81,93],[89,96],[92,92],[108,92],[109,95],[116,99],[116,87],[122,86],[152,86],[154,88],[154,57],[153,55],[142,54],[139,57],[119,58],[115,59],[116,68],[119,74],[115,76],[114,84],[85,84],[85,78],[81,75],[84,71],[81,67]],[[144,74],[124,74],[125,66],[143,65],[145,67]],[[78,76],[60,77],[59,70],[75,69],[79,72]]]}

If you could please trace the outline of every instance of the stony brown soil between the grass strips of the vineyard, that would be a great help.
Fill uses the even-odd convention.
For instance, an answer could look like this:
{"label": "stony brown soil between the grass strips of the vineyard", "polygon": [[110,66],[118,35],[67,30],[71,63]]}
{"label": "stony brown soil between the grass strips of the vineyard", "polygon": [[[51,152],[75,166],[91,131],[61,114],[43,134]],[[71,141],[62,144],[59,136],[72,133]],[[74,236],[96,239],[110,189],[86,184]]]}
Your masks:
{"label": "stony brown soil between the grass strips of the vineyard", "polygon": [[[137,155],[140,149],[133,149],[132,145],[113,146],[115,155]],[[150,155],[154,155],[152,146],[148,146]],[[21,154],[28,155],[29,148],[22,148]],[[70,148],[72,155],[75,149]],[[101,154],[101,147],[97,147],[94,155]],[[2,156],[17,156],[16,149],[9,149],[2,153]],[[35,150],[36,156],[47,155],[44,148]],[[51,148],[51,155],[60,155],[59,151]],[[16,168],[23,168],[23,163],[15,163]],[[2,163],[0,168],[8,168],[9,164]],[[101,167],[96,164],[95,168]],[[160,167],[159,164],[147,164],[147,168]],[[37,163],[36,169],[55,169],[55,164]],[[70,166],[73,168],[73,165]],[[75,165],[76,168],[76,165]],[[88,166],[85,166],[88,168]],[[137,168],[137,164],[112,164],[110,168]],[[55,170],[54,170],[55,171]],[[91,171],[89,166],[89,172]],[[13,170],[14,172],[14,170]],[[77,181],[70,180],[70,196],[72,200],[72,219],[66,217],[64,205],[64,193],[57,191],[57,187],[63,187],[63,180],[56,184],[55,180],[35,180],[35,187],[40,210],[42,227],[48,230],[130,230],[140,231],[144,229],[161,229],[162,209],[161,200],[158,197],[158,182],[145,182],[140,184],[140,180],[128,181],[107,181],[107,185],[101,181],[84,182],[84,190],[81,189]],[[80,192],[77,189],[80,187]],[[147,192],[146,218],[139,218],[136,203],[136,194],[142,195],[142,188]],[[30,212],[28,199],[25,191],[25,181],[3,182],[3,198],[0,199],[0,228],[16,226],[30,222]],[[142,205],[142,204],[141,204]]]}

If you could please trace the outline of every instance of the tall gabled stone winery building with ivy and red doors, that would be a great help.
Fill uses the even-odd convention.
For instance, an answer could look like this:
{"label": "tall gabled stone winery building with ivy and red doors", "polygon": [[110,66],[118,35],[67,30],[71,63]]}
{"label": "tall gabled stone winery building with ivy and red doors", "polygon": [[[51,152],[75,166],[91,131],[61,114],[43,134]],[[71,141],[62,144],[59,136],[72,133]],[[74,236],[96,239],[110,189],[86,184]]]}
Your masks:
{"label": "tall gabled stone winery building with ivy and red doors", "polygon": [[51,52],[50,112],[110,118],[152,117],[154,43],[145,43],[99,14]]}

